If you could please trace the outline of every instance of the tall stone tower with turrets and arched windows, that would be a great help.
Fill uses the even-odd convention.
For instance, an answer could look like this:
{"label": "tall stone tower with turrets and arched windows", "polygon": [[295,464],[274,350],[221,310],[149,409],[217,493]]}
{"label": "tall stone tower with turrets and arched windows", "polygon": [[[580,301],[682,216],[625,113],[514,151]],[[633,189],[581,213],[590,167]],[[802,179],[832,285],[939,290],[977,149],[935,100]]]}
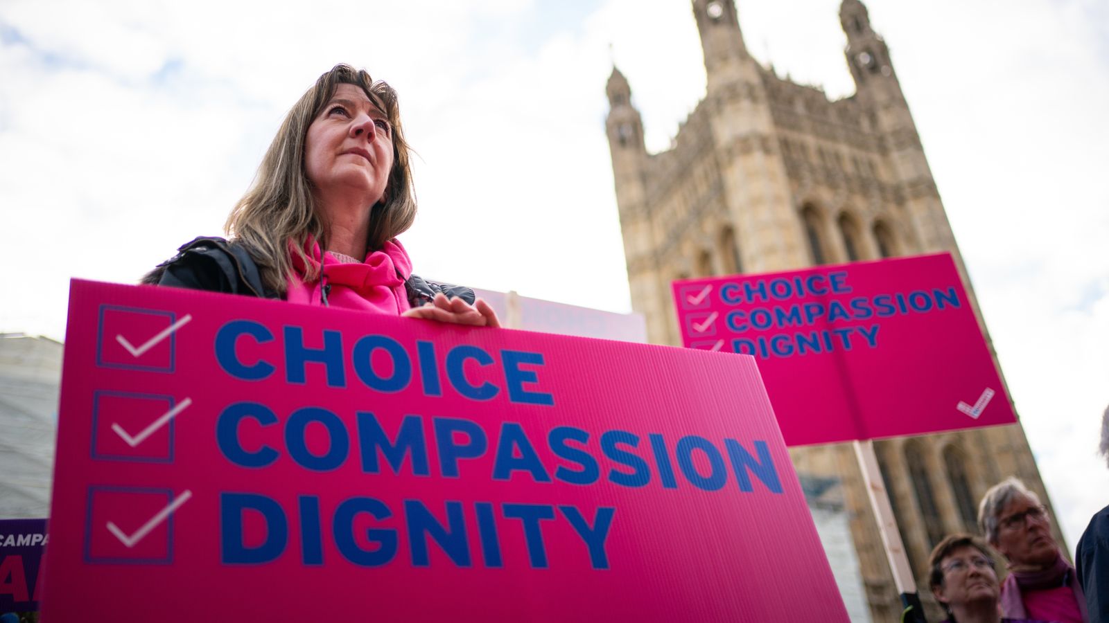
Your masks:
{"label": "tall stone tower with turrets and arched windows", "polygon": [[[648,153],[619,70],[607,89],[632,307],[647,318],[649,339],[681,344],[673,279],[940,251],[955,257],[981,324],[889,51],[863,3],[843,0],[840,8],[856,93],[836,101],[751,58],[732,0],[692,6],[708,88],[671,149]],[[987,488],[1017,476],[1050,507],[1020,425],[875,448],[930,620],[942,616],[927,586],[928,553],[947,533],[976,531]],[[853,449],[797,448],[792,456],[800,473],[842,480],[873,619],[898,620],[897,591]],[[1058,529],[1056,538],[1062,543]]]}

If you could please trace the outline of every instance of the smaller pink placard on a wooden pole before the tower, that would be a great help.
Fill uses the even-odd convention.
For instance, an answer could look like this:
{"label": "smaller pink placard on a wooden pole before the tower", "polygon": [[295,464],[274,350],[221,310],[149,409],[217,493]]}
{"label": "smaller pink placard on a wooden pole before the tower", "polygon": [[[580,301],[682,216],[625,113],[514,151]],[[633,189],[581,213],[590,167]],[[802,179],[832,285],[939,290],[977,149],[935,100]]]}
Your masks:
{"label": "smaller pink placard on a wooden pole before the tower", "polygon": [[786,446],[1016,421],[949,254],[673,293],[686,347],[757,359]]}

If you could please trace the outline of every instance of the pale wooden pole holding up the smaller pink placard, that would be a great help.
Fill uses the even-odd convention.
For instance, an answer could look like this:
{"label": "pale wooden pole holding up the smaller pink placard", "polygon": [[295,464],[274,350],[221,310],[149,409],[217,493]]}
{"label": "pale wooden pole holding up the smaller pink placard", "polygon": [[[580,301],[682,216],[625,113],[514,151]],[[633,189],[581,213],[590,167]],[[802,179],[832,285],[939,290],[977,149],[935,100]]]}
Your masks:
{"label": "pale wooden pole holding up the smaller pink placard", "polygon": [[913,569],[909,566],[908,556],[905,553],[905,543],[902,542],[901,532],[897,530],[897,520],[894,518],[894,510],[889,504],[889,492],[886,491],[885,482],[882,480],[882,470],[878,469],[878,457],[874,453],[874,441],[869,439],[855,440],[854,445],[858,467],[863,472],[863,482],[866,486],[866,494],[871,499],[871,509],[874,510],[874,519],[878,522],[882,545],[886,550],[886,559],[894,573],[894,584],[897,586],[897,592],[901,593],[902,605],[905,606],[902,621],[905,623],[927,623],[924,617],[924,607],[920,604],[920,595],[916,592]]}

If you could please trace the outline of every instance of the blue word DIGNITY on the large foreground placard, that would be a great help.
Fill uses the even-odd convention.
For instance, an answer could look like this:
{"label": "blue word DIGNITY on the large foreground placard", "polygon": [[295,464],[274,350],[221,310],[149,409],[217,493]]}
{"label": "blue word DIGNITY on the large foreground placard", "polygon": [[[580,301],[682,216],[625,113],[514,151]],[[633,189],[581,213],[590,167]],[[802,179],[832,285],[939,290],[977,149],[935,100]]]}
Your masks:
{"label": "blue word DIGNITY on the large foreground placard", "polygon": [[[296,507],[301,562],[306,565],[323,564],[325,524],[319,498],[299,496]],[[401,540],[406,540],[413,566],[431,565],[430,544],[435,543],[455,566],[474,566],[471,550],[477,549],[482,566],[500,569],[505,566],[501,539],[506,538],[506,533],[513,533],[525,541],[531,569],[547,569],[545,535],[551,527],[548,525],[545,531],[543,524],[564,521],[580,539],[590,565],[593,569],[609,568],[604,545],[615,513],[612,508],[598,508],[593,519],[589,520],[572,505],[475,502],[469,521],[466,515],[470,513],[464,512],[462,502],[448,500],[444,508],[447,521],[440,522],[424,502],[405,500],[401,505],[404,518],[394,520],[394,510],[378,499],[347,498],[335,508],[328,528],[339,554],[358,566],[383,566],[395,562]],[[244,531],[247,513],[258,514],[265,522],[265,538],[261,544],[247,544],[250,539]],[[502,520],[500,522],[497,521],[498,514]],[[373,528],[364,528],[366,520]],[[220,523],[224,564],[265,564],[276,561],[288,549],[288,519],[282,504],[273,498],[257,493],[222,493]],[[478,548],[471,548],[474,532],[478,537]],[[559,543],[564,541],[561,539]]]}

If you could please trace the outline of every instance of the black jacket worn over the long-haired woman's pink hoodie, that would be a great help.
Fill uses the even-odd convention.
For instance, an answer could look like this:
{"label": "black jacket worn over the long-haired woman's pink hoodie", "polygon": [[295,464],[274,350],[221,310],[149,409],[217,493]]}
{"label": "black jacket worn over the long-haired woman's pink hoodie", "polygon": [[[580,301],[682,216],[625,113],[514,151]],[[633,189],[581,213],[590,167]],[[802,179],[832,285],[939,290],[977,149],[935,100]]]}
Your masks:
{"label": "black jacket worn over the long-haired woman's pink hoodie", "polygon": [[[142,283],[179,288],[203,289],[264,298],[281,298],[262,283],[258,266],[243,245],[218,237],[197,237],[177,249],[177,255],[147,273]],[[474,305],[474,290],[450,284],[425,280],[418,275],[405,282],[408,303],[419,307],[442,293]]]}

